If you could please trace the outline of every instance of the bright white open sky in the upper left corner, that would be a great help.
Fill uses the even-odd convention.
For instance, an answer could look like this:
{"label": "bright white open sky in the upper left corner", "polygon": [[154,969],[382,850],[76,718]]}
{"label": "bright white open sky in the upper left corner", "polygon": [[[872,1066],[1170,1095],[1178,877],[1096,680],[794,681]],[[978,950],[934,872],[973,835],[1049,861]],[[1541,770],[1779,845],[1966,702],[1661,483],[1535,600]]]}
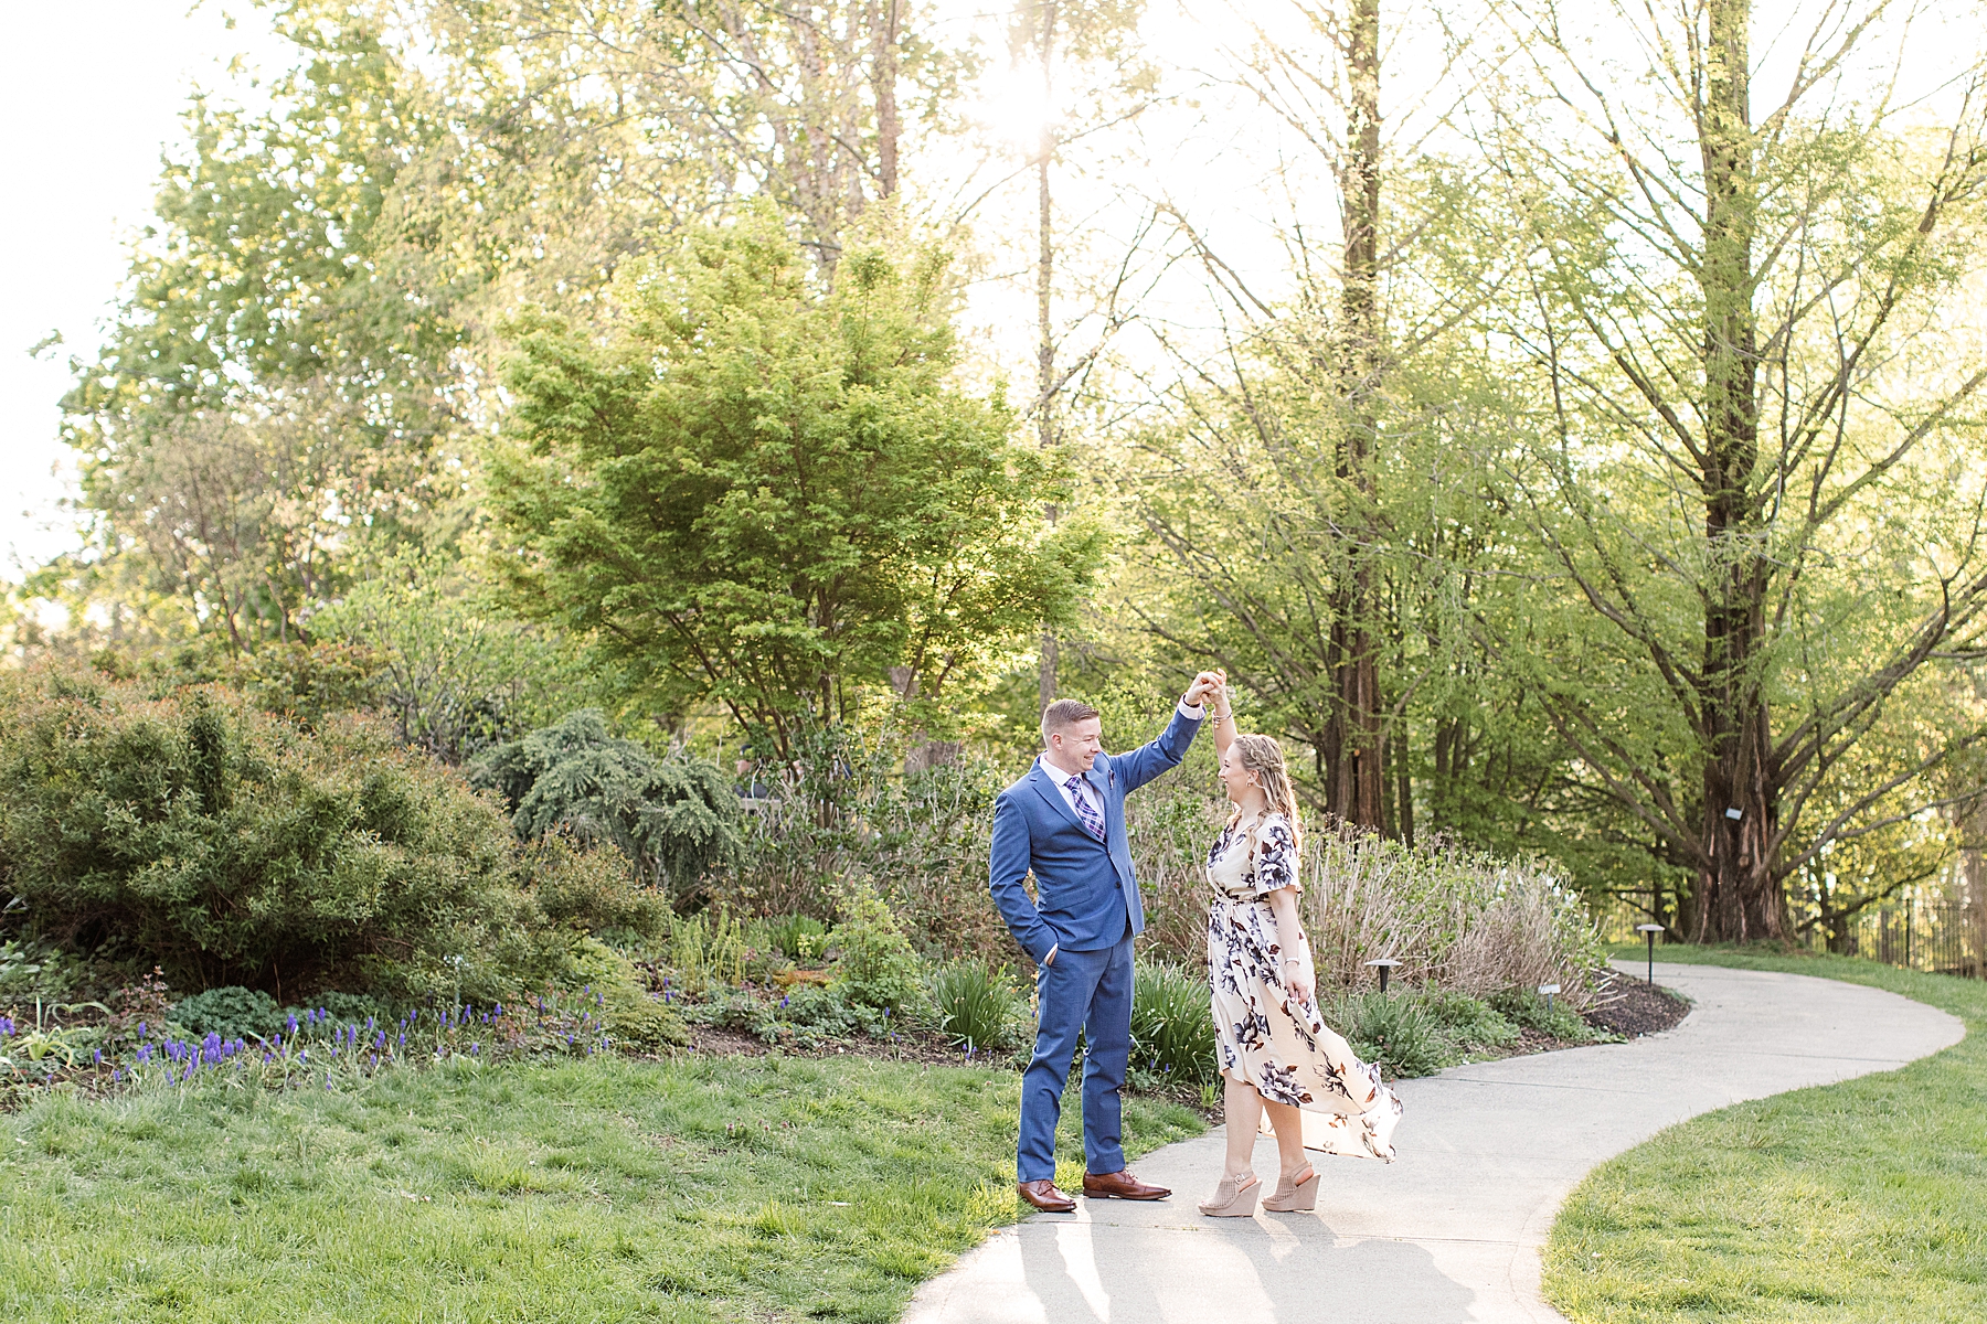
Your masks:
{"label": "bright white open sky in the upper left corner", "polygon": [[[74,490],[56,437],[70,355],[97,345],[145,222],[159,153],[179,141],[195,85],[219,85],[236,54],[270,52],[242,0],[229,30],[217,0],[0,0],[0,578],[76,546],[60,502]],[[60,331],[64,343],[30,359]]]}

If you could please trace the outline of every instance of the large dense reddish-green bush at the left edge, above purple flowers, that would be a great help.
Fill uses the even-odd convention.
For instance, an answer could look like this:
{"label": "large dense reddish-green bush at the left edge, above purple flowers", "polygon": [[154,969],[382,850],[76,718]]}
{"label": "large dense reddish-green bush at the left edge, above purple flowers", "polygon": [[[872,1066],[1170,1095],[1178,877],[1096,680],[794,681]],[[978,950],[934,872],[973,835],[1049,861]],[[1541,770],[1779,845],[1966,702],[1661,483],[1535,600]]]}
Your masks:
{"label": "large dense reddish-green bush at the left edge, above purple flowers", "polygon": [[499,998],[560,969],[503,816],[389,732],[219,689],[0,677],[0,873],[42,937],[181,989]]}

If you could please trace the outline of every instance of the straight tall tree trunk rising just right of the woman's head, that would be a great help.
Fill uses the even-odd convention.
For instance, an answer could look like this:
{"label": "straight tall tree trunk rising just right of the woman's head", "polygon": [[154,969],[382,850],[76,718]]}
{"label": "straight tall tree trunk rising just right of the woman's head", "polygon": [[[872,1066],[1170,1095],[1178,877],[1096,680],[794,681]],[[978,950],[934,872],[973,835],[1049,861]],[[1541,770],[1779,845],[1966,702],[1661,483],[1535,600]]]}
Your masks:
{"label": "straight tall tree trunk rising just right of the woman's head", "polygon": [[1359,828],[1381,828],[1387,802],[1379,663],[1373,651],[1373,445],[1379,431],[1379,0],[1351,0],[1345,18],[1349,91],[1339,199],[1345,278],[1339,294],[1339,478],[1357,514],[1345,574],[1333,592],[1333,715],[1325,730],[1325,804]]}

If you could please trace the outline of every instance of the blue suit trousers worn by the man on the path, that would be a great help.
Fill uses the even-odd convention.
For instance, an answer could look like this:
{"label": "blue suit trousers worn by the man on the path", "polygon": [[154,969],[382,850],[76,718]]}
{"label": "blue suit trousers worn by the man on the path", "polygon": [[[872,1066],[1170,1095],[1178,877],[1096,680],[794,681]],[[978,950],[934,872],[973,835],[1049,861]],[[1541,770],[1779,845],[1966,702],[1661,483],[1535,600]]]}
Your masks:
{"label": "blue suit trousers worn by the man on the path", "polygon": [[1069,1058],[1083,1032],[1083,1157],[1093,1173],[1125,1169],[1123,1090],[1131,1064],[1131,927],[1115,947],[1057,951],[1035,971],[1035,1056],[1021,1076],[1021,1181],[1055,1179],[1055,1124]]}

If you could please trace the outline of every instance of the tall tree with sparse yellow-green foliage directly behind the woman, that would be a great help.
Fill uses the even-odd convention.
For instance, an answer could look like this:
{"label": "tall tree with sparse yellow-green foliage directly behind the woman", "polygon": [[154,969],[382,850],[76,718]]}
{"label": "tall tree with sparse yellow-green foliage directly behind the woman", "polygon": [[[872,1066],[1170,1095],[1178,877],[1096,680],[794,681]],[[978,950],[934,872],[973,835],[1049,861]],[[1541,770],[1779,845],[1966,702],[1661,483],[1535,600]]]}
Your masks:
{"label": "tall tree with sparse yellow-green foliage directly behind the woman", "polygon": [[[1160,576],[1188,592],[1216,586],[1220,611],[1182,603],[1154,627],[1198,641],[1311,746],[1321,808],[1411,834],[1407,705],[1445,689],[1429,667],[1462,665],[1454,594],[1435,586],[1464,582],[1449,578],[1460,570],[1451,558],[1494,524],[1472,512],[1480,472],[1454,433],[1454,419],[1482,409],[1486,377],[1452,330],[1510,258],[1462,222],[1468,169],[1423,155],[1419,129],[1399,145],[1383,137],[1377,0],[1238,16],[1254,40],[1224,77],[1303,149],[1280,173],[1286,195],[1311,197],[1315,179],[1337,202],[1337,228],[1301,210],[1280,224],[1294,286],[1284,296],[1258,290],[1248,262],[1186,224],[1238,333],[1228,363],[1182,353],[1188,425],[1154,437],[1143,514]],[[1182,224],[1192,210],[1176,206]],[[1425,449],[1435,439],[1456,463]],[[1182,447],[1212,461],[1218,490],[1176,500],[1172,478],[1192,472]],[[1234,500],[1220,490],[1230,486]]]}

